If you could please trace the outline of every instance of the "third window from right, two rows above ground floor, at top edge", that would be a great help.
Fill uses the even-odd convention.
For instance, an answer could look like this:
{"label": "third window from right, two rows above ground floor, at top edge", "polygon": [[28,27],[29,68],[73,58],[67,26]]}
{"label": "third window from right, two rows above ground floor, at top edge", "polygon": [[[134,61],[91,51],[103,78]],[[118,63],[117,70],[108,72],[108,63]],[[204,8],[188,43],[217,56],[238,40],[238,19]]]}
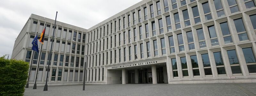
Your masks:
{"label": "third window from right, two rows above ground floor, at top edge", "polygon": [[221,17],[221,16],[225,16],[222,4],[221,4],[221,0],[213,0],[216,12],[217,12],[217,16]]}

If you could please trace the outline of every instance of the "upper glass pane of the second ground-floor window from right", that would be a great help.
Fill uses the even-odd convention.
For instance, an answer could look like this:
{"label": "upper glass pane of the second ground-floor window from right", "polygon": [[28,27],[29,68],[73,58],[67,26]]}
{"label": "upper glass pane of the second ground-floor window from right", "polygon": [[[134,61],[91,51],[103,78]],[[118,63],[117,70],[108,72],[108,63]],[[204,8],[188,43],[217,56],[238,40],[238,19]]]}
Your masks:
{"label": "upper glass pane of the second ground-floor window from right", "polygon": [[239,64],[238,59],[236,57],[236,50],[229,50],[228,52],[228,60],[229,63],[232,64]]}

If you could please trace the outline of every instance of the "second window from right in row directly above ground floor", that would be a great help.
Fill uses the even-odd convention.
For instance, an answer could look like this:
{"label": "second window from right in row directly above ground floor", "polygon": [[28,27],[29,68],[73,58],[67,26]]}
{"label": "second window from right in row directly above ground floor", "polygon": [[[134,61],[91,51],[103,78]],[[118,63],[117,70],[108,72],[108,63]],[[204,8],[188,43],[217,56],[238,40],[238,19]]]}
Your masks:
{"label": "second window from right in row directly above ground floor", "polygon": [[240,41],[248,40],[248,36],[246,33],[246,30],[244,28],[244,22],[243,19],[236,19],[234,20],[236,32],[238,33],[238,38]]}

